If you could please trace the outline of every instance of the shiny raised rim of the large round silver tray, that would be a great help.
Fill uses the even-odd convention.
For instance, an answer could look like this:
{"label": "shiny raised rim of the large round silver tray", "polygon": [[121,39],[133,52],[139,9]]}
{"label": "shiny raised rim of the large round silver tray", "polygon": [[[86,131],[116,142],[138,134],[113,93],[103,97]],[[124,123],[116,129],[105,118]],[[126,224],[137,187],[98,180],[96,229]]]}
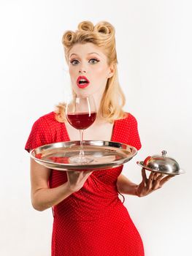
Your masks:
{"label": "shiny raised rim of the large round silver tray", "polygon": [[[31,149],[31,151],[29,152],[30,154],[30,157],[32,159],[34,159],[37,163],[41,164],[41,165],[44,165],[45,167],[47,167],[46,165],[55,165],[55,167],[48,167],[48,168],[51,168],[53,170],[99,170],[99,169],[109,169],[109,168],[114,168],[114,167],[118,167],[120,165],[123,165],[125,164],[126,162],[130,161],[133,157],[135,157],[137,155],[137,148],[135,148],[134,146],[131,146],[131,145],[128,145],[126,143],[120,143],[120,142],[116,142],[116,141],[111,141],[111,140],[83,140],[83,143],[104,143],[103,146],[108,146],[108,147],[113,147],[115,148],[114,144],[118,144],[118,146],[126,146],[131,148],[132,150],[134,150],[134,154],[127,158],[127,159],[118,159],[116,160],[115,162],[113,163],[110,163],[110,162],[107,162],[107,163],[101,163],[101,164],[95,164],[95,165],[77,165],[77,164],[64,164],[64,163],[54,163],[54,162],[49,162],[47,160],[43,160],[43,159],[38,159],[37,157],[35,157],[33,155],[34,151],[40,149],[40,148],[47,148],[51,145],[56,145],[58,146],[61,146],[63,144],[69,144],[71,147],[72,146],[79,146],[80,145],[80,140],[68,140],[68,141],[61,141],[61,142],[56,142],[56,143],[49,143],[49,144],[45,144],[45,145],[42,145],[42,146],[39,146],[37,148],[33,148]],[[106,143],[106,145],[105,145]],[[107,145],[109,144],[109,145]],[[110,144],[112,144],[113,146],[110,146]],[[66,146],[66,148],[69,148],[70,146]],[[91,145],[91,144],[85,144],[85,146],[101,146],[101,145]],[[118,147],[117,147],[118,148]],[[119,148],[120,149],[120,148]],[[56,167],[56,166],[59,166],[59,167]],[[62,169],[61,169],[62,168]]]}

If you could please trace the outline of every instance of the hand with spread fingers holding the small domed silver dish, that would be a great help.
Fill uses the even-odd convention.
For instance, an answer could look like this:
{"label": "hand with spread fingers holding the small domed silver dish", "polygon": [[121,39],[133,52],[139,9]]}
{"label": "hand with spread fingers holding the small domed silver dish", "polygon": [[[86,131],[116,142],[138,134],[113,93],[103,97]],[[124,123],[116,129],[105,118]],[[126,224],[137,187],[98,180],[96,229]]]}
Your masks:
{"label": "hand with spread fingers holding the small domed silver dish", "polygon": [[142,168],[142,182],[137,187],[138,197],[144,197],[156,189],[160,189],[172,177],[171,175],[165,176],[164,174],[152,171],[149,178],[147,178],[145,168]]}

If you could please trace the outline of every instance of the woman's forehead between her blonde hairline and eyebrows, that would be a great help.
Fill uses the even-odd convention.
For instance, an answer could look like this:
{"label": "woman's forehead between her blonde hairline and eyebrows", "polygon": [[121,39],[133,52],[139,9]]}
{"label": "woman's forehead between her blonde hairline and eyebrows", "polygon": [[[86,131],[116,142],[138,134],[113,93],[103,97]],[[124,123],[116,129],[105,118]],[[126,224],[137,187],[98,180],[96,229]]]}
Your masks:
{"label": "woman's forehead between her blonde hairline and eyebrows", "polygon": [[101,58],[107,59],[107,56],[105,56],[104,51],[91,42],[87,42],[85,44],[75,44],[72,47],[72,49],[69,50],[69,57],[74,56],[74,54],[76,56],[88,56],[91,53],[96,53],[99,56],[101,56]]}

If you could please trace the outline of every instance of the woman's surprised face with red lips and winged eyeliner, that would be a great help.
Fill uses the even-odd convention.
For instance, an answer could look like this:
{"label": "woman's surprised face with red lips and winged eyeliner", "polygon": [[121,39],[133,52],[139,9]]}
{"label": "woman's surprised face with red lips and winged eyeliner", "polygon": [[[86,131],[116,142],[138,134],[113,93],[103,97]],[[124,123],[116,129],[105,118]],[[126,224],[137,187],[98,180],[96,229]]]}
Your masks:
{"label": "woman's surprised face with red lips and winged eyeliner", "polygon": [[113,71],[101,48],[91,42],[77,43],[69,51],[69,74],[77,95],[103,94]]}

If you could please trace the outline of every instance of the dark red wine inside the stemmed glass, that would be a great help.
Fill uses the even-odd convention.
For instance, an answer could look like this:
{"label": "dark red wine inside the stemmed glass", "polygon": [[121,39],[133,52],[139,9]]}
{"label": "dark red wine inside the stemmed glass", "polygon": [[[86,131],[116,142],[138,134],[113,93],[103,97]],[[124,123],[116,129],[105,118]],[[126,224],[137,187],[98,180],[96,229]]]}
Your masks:
{"label": "dark red wine inside the stemmed glass", "polygon": [[69,124],[76,129],[87,129],[96,120],[96,112],[92,113],[69,113],[67,114]]}

